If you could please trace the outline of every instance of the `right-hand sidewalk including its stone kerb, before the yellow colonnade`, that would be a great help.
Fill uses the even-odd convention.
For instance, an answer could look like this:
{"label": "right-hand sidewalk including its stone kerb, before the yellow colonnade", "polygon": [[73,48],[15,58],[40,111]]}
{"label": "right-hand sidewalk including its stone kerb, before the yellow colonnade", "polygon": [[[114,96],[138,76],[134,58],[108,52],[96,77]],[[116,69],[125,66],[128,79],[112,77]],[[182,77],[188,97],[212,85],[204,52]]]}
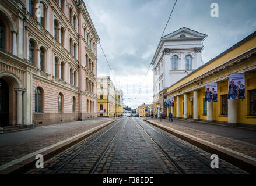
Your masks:
{"label": "right-hand sidewalk including its stone kerb, before the yellow colonnade", "polygon": [[177,137],[217,153],[220,158],[230,160],[244,168],[256,170],[256,131],[237,127],[226,127],[215,124],[186,122],[169,119],[143,119]]}

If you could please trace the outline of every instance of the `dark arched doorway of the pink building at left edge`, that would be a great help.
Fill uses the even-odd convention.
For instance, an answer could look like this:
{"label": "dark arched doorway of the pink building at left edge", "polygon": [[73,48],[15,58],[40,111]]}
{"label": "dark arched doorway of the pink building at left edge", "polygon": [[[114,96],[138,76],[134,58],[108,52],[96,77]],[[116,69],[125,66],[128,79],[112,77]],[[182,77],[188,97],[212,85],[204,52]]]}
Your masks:
{"label": "dark arched doorway of the pink building at left edge", "polygon": [[0,127],[9,125],[9,86],[0,78]]}

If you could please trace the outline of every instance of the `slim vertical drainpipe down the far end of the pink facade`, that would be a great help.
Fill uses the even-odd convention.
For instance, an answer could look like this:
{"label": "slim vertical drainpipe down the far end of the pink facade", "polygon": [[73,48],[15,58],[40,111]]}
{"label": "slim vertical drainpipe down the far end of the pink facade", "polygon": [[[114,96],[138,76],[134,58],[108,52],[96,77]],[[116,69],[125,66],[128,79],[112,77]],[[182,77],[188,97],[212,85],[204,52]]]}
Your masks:
{"label": "slim vertical drainpipe down the far end of the pink facade", "polygon": [[[81,1],[79,3],[79,6],[81,4]],[[81,33],[81,27],[80,27],[80,17],[81,17],[81,13],[79,12],[78,14],[78,37],[79,37],[79,40],[78,40],[78,46],[79,46],[79,50],[78,50],[78,59],[79,59],[79,91],[78,91],[78,94],[79,94],[79,121],[82,121],[82,118],[81,118],[81,99],[82,99],[82,95],[81,95],[81,37],[80,37],[80,33]]]}

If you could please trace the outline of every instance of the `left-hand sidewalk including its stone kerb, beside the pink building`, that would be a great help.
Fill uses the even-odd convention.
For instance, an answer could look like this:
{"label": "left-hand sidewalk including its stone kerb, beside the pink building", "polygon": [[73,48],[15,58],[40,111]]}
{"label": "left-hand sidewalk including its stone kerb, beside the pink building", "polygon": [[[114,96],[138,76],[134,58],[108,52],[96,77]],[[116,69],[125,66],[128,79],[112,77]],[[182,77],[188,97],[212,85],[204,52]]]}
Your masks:
{"label": "left-hand sidewalk including its stone kerb, beside the pink building", "polygon": [[[75,142],[92,135],[116,119],[74,121],[36,127],[0,135],[0,174],[22,169],[34,161],[34,153],[50,156],[60,149],[68,148]],[[50,157],[49,157],[50,158]]]}

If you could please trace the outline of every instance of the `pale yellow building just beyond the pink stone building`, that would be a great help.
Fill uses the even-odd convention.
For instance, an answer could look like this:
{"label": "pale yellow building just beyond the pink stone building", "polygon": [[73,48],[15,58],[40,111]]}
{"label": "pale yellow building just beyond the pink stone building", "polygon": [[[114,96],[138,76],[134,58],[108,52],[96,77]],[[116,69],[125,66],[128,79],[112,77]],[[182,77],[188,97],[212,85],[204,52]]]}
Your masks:
{"label": "pale yellow building just beyond the pink stone building", "polygon": [[122,115],[122,90],[114,87],[109,76],[97,77],[98,116],[120,117]]}

